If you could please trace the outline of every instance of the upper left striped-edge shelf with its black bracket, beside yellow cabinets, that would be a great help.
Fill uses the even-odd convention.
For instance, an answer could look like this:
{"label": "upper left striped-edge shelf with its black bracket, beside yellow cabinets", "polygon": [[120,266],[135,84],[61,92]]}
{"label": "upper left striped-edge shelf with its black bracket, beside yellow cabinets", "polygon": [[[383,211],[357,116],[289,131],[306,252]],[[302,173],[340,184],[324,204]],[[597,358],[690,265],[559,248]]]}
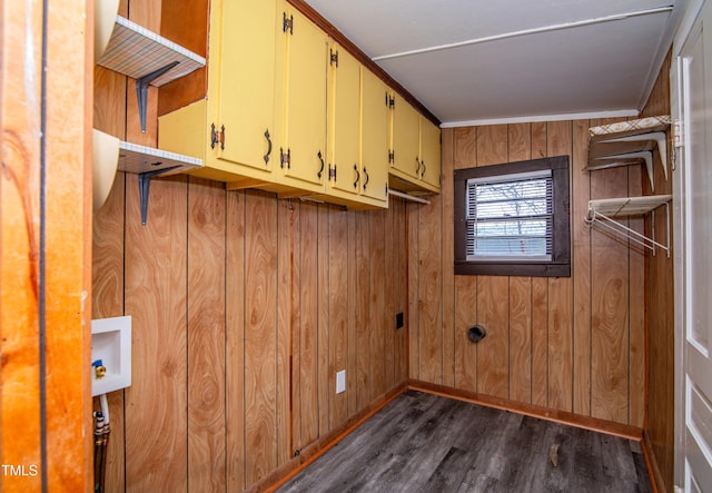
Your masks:
{"label": "upper left striped-edge shelf with its black bracket, beside yellow cabinets", "polygon": [[136,79],[139,118],[145,132],[148,86],[160,87],[185,77],[205,67],[205,58],[116,16],[113,30],[97,65]]}

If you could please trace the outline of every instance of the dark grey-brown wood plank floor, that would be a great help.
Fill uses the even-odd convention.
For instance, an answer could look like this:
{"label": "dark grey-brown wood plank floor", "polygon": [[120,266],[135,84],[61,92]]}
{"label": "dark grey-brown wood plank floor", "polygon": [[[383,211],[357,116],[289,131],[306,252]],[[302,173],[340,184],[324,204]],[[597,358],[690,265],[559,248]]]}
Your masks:
{"label": "dark grey-brown wood plank floor", "polygon": [[600,493],[651,485],[635,441],[407,391],[277,491]]}

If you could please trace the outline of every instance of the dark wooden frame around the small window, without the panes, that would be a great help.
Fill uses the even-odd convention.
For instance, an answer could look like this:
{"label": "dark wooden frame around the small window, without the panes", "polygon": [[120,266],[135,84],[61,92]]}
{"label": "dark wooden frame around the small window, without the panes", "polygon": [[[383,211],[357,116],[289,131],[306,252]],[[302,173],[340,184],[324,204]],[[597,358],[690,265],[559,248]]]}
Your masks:
{"label": "dark wooden frame around the small window, without the panes", "polygon": [[[486,276],[571,277],[571,210],[568,156],[457,169],[454,172],[455,274]],[[554,238],[551,260],[467,260],[467,180],[487,176],[551,169],[554,193]]]}

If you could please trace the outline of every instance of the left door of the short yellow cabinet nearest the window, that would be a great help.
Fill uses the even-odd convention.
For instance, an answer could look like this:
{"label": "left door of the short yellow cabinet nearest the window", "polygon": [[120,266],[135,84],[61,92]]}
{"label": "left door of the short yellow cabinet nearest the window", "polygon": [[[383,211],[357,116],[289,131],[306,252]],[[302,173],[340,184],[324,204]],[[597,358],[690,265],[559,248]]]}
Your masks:
{"label": "left door of the short yellow cabinet nearest the window", "polygon": [[419,118],[418,112],[406,100],[395,96],[392,109],[393,162],[390,166],[413,178],[421,176]]}

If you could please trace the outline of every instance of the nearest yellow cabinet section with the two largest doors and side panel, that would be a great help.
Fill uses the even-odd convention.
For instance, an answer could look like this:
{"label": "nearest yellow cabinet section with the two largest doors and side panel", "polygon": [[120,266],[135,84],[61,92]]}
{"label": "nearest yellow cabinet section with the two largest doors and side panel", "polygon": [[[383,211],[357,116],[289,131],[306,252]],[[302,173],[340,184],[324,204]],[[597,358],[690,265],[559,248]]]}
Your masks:
{"label": "nearest yellow cabinet section with the two largest doors and side panel", "polygon": [[208,93],[159,118],[159,147],[228,188],[324,191],[326,34],[281,0],[214,0]]}

